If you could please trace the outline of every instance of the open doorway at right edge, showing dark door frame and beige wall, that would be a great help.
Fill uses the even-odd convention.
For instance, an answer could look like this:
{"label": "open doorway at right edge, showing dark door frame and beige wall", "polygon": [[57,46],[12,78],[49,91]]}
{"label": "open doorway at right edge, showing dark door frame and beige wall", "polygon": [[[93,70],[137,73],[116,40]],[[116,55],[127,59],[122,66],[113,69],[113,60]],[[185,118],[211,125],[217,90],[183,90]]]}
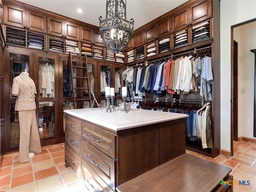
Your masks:
{"label": "open doorway at right edge, showing dark door frame and beige wall", "polygon": [[[248,25],[246,25],[248,24]],[[248,33],[248,29],[253,28]],[[234,26],[231,26],[231,139],[230,148],[233,156],[233,141],[238,141],[239,136],[252,137],[251,123],[253,117],[248,115],[253,104],[250,103],[252,89],[249,87],[254,84],[250,75],[254,68],[254,61],[248,57],[253,54],[251,49],[256,48],[255,34],[256,18]],[[250,34],[250,35],[246,35]],[[237,39],[237,40],[234,40]],[[252,55],[250,55],[252,54]],[[253,70],[254,71],[254,70]],[[248,110],[249,109],[249,110]],[[251,122],[252,118],[252,122]]]}

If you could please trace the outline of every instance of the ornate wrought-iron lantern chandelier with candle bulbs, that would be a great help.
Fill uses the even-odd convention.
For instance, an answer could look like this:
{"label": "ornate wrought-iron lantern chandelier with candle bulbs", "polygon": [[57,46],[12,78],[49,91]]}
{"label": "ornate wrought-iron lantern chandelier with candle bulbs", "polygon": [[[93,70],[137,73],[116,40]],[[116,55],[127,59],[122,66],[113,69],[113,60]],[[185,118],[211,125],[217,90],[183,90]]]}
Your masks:
{"label": "ornate wrought-iron lantern chandelier with candle bulbs", "polygon": [[107,0],[106,19],[100,20],[100,36],[109,50],[124,50],[132,38],[133,22],[126,20],[126,0]]}

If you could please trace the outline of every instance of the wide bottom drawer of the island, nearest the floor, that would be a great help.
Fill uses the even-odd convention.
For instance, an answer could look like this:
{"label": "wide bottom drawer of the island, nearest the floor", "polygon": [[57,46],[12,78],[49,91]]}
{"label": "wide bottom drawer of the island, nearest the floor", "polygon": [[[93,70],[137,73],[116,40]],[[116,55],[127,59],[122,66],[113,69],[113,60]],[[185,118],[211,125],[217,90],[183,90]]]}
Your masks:
{"label": "wide bottom drawer of the island, nearest the floor", "polygon": [[[82,181],[84,184],[89,185],[88,188],[93,187],[94,191],[108,191],[115,192],[108,186],[91,168],[82,160]],[[99,189],[100,188],[100,189]]]}

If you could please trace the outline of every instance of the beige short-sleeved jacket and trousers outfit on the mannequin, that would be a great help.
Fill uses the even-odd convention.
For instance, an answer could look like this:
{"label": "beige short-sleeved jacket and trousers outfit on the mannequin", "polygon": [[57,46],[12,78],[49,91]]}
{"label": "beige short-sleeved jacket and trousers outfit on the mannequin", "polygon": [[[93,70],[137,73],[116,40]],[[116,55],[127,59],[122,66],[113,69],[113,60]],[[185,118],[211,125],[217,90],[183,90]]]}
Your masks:
{"label": "beige short-sleeved jacket and trousers outfit on the mannequin", "polygon": [[18,96],[15,110],[19,114],[19,162],[29,161],[29,152],[40,153],[41,143],[36,122],[36,86],[28,73],[22,72],[13,79],[12,94]]}

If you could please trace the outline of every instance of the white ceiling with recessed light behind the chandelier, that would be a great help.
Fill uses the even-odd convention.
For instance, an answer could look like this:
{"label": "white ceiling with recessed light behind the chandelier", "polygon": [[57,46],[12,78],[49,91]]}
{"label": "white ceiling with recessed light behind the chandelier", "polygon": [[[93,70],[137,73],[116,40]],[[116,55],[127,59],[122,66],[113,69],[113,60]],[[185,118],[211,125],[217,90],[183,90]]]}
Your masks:
{"label": "white ceiling with recessed light behind the chandelier", "polygon": [[[106,18],[106,0],[19,0],[54,13],[99,26]],[[188,0],[126,0],[126,20],[134,19],[134,30]],[[76,9],[82,9],[82,13]]]}

